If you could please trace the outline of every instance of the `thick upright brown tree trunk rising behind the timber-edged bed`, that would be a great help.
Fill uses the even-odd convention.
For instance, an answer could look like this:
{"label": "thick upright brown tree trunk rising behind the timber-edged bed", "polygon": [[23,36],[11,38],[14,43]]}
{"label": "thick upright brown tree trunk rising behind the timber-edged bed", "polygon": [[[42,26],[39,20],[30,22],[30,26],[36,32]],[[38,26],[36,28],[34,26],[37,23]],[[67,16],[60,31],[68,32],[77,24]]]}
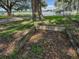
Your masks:
{"label": "thick upright brown tree trunk rising behind the timber-edged bed", "polygon": [[47,6],[47,4],[44,2],[45,0],[31,0],[32,2],[32,14],[34,20],[41,20],[42,15],[42,7]]}

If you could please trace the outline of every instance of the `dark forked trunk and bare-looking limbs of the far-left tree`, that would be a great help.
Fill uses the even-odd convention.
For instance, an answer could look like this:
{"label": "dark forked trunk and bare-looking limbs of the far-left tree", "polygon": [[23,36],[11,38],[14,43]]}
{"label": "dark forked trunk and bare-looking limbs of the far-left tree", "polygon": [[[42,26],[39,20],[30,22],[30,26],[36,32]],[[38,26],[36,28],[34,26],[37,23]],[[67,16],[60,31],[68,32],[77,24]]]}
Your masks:
{"label": "dark forked trunk and bare-looking limbs of the far-left tree", "polygon": [[12,16],[12,7],[16,4],[17,0],[10,1],[10,0],[0,0],[0,6],[6,10],[8,16]]}

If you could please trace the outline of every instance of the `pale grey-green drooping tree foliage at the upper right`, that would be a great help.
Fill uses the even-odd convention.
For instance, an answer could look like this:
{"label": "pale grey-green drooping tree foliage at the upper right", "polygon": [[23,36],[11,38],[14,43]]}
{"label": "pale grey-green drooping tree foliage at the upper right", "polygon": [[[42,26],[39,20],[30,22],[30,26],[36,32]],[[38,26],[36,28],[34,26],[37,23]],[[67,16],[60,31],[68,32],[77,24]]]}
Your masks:
{"label": "pale grey-green drooping tree foliage at the upper right", "polygon": [[68,11],[68,14],[78,14],[79,12],[79,0],[57,0],[56,6],[58,10],[62,8],[64,11]]}

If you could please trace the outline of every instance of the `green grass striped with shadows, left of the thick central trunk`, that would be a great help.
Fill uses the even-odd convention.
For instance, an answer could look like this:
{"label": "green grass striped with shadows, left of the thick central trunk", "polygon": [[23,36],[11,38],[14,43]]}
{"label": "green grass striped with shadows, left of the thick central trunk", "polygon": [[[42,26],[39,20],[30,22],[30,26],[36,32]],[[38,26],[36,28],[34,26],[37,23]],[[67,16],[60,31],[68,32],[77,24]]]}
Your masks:
{"label": "green grass striped with shadows, left of the thick central trunk", "polygon": [[0,24],[0,27],[5,28],[3,30],[0,30],[0,37],[9,41],[14,33],[30,29],[32,26],[32,21],[17,21],[7,24]]}

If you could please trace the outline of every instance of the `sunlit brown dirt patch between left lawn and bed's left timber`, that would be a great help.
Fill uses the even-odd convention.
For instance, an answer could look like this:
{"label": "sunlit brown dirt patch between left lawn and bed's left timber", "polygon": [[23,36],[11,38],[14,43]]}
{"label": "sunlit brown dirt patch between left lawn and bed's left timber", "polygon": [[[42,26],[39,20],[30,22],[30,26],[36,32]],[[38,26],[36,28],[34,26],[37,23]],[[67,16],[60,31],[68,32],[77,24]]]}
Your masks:
{"label": "sunlit brown dirt patch between left lawn and bed's left timber", "polygon": [[[29,30],[28,30],[29,31]],[[23,36],[28,33],[27,30],[25,31],[18,31],[14,33],[12,36],[12,40],[9,42],[4,41],[3,39],[0,40],[0,54],[1,55],[10,55],[16,48],[16,44],[21,40]]]}

